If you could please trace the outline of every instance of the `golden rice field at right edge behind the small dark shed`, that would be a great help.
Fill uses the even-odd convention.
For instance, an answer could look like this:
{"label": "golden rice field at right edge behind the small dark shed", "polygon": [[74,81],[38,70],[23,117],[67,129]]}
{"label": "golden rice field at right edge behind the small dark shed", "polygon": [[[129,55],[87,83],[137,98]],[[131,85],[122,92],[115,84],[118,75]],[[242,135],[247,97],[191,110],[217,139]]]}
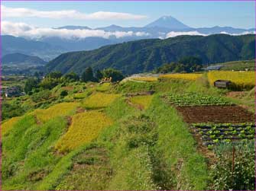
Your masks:
{"label": "golden rice field at right edge behind the small dark shed", "polygon": [[212,71],[208,73],[209,83],[216,80],[232,81],[235,88],[251,89],[255,86],[255,72]]}

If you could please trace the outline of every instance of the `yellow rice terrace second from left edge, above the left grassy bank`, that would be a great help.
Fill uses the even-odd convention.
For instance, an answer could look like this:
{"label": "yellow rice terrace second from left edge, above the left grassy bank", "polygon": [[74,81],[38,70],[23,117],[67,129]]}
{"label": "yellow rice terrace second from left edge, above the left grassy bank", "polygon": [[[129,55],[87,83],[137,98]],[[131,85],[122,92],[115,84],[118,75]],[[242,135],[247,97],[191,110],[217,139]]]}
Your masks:
{"label": "yellow rice terrace second from left edge, above the left grassy bank", "polygon": [[48,120],[57,116],[70,116],[76,113],[76,108],[79,107],[79,103],[58,103],[46,110],[34,110],[32,115],[36,116],[37,120],[42,123],[46,123]]}

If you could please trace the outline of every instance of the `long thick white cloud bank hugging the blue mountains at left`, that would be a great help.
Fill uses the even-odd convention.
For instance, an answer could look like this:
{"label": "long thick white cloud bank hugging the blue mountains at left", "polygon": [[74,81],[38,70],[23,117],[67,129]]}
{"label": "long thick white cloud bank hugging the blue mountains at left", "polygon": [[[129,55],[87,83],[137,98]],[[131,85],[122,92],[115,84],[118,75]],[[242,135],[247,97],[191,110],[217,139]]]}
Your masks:
{"label": "long thick white cloud bank hugging the blue mountains at left", "polygon": [[108,39],[109,37],[147,37],[149,33],[144,32],[133,32],[133,31],[115,31],[115,32],[106,32],[104,30],[88,30],[88,29],[53,29],[53,28],[41,28],[34,27],[29,24],[24,23],[12,23],[9,21],[2,21],[1,23],[2,34],[12,35],[15,37],[26,37],[31,39],[40,39],[42,37],[60,37],[64,39],[78,38],[83,39],[86,37],[103,37]]}

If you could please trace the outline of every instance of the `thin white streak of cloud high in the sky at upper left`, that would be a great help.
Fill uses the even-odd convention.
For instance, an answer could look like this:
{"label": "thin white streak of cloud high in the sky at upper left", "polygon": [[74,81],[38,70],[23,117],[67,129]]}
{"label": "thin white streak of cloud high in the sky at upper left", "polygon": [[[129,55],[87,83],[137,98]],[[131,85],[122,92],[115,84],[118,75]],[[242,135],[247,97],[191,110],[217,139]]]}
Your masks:
{"label": "thin white streak of cloud high in the sky at upper left", "polygon": [[85,14],[76,10],[38,11],[30,8],[8,8],[1,5],[3,18],[53,18],[53,19],[79,19],[79,20],[139,20],[147,18],[145,15],[122,12],[98,11]]}

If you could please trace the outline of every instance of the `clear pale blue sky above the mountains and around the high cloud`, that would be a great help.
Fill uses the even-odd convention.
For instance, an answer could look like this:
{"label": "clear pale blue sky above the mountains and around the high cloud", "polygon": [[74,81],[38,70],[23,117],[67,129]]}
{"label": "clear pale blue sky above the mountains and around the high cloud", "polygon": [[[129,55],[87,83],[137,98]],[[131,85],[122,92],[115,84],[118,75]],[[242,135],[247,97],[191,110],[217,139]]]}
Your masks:
{"label": "clear pale blue sky above the mountains and around the high cloud", "polygon": [[4,21],[24,22],[37,27],[81,25],[104,27],[117,24],[122,27],[142,27],[163,15],[171,15],[190,27],[230,26],[255,27],[254,2],[2,2],[7,8],[27,8],[37,11],[76,10],[82,14],[98,11],[120,12],[141,16],[130,19],[73,19],[5,17]]}

